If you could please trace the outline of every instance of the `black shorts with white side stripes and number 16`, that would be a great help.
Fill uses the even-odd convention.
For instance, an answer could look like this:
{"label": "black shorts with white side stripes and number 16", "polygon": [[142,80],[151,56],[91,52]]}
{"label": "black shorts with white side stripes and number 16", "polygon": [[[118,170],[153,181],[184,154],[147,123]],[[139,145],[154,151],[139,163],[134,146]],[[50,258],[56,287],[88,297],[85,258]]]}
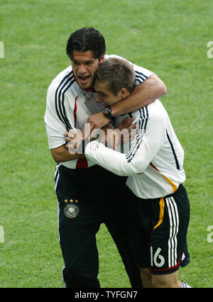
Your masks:
{"label": "black shorts with white side stripes and number 16", "polygon": [[180,184],[164,198],[142,199],[129,190],[130,241],[138,267],[151,267],[152,274],[170,274],[190,262],[187,227],[190,202]]}

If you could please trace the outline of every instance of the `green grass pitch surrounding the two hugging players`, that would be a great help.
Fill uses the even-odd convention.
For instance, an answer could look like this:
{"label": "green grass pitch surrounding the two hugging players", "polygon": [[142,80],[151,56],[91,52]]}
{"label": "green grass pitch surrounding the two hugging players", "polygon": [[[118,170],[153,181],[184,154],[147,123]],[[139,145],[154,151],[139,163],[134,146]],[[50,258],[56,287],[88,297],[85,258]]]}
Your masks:
{"label": "green grass pitch surrounding the two hugging players", "polygon": [[[103,33],[107,54],[151,69],[167,86],[161,101],[185,150],[191,202],[191,263],[180,279],[212,287],[212,10],[212,0],[1,0],[0,287],[62,287],[55,163],[43,116],[48,85],[70,65],[67,38],[84,26]],[[104,225],[97,245],[101,286],[130,287]]]}

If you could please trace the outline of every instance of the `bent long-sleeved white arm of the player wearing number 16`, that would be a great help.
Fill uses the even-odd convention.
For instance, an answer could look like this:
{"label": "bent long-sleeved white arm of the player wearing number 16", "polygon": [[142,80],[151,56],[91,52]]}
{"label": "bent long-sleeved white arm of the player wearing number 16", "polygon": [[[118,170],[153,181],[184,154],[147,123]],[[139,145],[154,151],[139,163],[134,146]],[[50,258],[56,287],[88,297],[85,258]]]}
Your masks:
{"label": "bent long-sleeved white arm of the player wearing number 16", "polygon": [[90,142],[85,148],[87,159],[120,176],[135,176],[143,173],[165,143],[165,125],[162,116],[155,116],[148,123],[146,133],[138,132],[129,152],[122,154],[105,147],[102,143]]}

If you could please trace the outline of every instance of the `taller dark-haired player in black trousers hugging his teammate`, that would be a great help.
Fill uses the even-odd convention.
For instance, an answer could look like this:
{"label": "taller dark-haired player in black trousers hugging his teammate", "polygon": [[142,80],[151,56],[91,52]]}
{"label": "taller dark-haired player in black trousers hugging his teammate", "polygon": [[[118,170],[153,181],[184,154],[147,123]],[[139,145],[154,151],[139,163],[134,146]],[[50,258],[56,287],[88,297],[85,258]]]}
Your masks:
{"label": "taller dark-haired player in black trousers hugging his teammate", "polygon": [[[136,87],[129,99],[107,109],[95,101],[94,73],[109,56],[104,37],[94,28],[81,28],[70,35],[67,55],[71,65],[60,72],[48,88],[45,112],[48,143],[55,169],[60,247],[66,287],[99,287],[96,234],[105,223],[132,287],[140,287],[138,268],[128,243],[126,177],[99,167],[82,154],[70,154],[64,133],[84,128],[111,127],[109,120],[145,106],[165,94],[163,82],[143,67],[134,66]],[[122,103],[122,102],[121,102]],[[116,188],[116,190],[114,190]]]}

